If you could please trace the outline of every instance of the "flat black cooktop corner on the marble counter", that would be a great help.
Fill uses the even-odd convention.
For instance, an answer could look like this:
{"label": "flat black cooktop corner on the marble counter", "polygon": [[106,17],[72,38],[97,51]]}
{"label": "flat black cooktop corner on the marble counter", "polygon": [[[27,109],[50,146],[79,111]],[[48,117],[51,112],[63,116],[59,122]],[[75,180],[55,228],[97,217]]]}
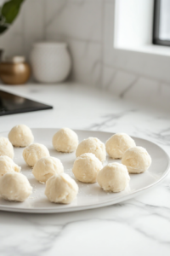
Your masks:
{"label": "flat black cooktop corner on the marble counter", "polygon": [[50,108],[53,107],[0,90],[0,115],[25,113]]}

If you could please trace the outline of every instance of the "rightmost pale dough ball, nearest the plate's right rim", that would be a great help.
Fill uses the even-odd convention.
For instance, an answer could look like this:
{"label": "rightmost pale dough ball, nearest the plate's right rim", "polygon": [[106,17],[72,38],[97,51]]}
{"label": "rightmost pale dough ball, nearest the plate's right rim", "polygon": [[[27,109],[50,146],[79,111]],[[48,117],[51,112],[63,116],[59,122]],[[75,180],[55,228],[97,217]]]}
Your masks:
{"label": "rightmost pale dough ball, nearest the plate's right rim", "polygon": [[129,173],[141,173],[150,167],[151,157],[145,148],[129,148],[122,156],[122,164],[127,166]]}

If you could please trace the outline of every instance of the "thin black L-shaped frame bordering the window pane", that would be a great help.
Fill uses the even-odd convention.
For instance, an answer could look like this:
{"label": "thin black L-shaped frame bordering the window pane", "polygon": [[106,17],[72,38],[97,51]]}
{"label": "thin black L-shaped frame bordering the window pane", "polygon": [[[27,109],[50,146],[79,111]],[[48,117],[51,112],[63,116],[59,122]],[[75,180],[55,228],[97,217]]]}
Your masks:
{"label": "thin black L-shaped frame bordering the window pane", "polygon": [[159,38],[160,27],[160,6],[161,0],[154,0],[154,20],[153,20],[153,44],[170,46],[170,40],[161,40]]}

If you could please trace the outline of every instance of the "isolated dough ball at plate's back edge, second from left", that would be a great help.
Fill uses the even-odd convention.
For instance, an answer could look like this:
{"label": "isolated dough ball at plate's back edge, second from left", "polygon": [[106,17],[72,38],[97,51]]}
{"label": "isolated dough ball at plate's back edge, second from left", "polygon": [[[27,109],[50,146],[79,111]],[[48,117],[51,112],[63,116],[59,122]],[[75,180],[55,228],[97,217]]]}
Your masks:
{"label": "isolated dough ball at plate's back edge, second from left", "polygon": [[54,134],[53,146],[59,152],[70,153],[77,149],[77,133],[69,128],[62,128]]}

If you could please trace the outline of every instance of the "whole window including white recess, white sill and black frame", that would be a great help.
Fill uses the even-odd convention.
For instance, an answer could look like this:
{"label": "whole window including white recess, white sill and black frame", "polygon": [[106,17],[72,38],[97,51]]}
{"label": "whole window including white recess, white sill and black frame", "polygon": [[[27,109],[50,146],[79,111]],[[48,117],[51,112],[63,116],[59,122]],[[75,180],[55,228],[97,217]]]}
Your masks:
{"label": "whole window including white recess, white sill and black frame", "polygon": [[114,49],[170,56],[170,0],[116,0],[114,25]]}

